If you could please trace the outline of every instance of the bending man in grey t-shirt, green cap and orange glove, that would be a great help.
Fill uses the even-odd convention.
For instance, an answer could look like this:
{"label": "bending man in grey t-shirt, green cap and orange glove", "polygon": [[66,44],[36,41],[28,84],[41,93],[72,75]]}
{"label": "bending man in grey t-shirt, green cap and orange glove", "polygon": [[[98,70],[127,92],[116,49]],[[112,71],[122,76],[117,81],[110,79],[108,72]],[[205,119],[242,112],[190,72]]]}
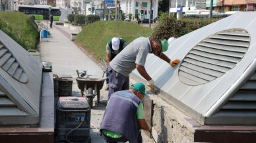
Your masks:
{"label": "bending man in grey t-shirt, green cap and orange glove", "polygon": [[129,43],[115,58],[110,62],[109,71],[109,92],[108,98],[117,91],[129,89],[129,74],[134,70],[137,71],[147,80],[148,86],[154,88],[154,80],[148,75],[144,65],[148,53],[153,53],[160,59],[175,67],[179,59],[171,61],[163,52],[168,50],[166,40],[150,40],[149,38],[140,37]]}

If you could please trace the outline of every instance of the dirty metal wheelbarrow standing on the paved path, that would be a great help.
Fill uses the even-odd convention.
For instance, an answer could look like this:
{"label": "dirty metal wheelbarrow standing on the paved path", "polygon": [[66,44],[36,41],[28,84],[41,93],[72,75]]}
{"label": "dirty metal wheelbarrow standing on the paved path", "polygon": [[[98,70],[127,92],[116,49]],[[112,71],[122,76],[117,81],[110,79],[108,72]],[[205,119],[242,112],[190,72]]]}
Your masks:
{"label": "dirty metal wheelbarrow standing on the paved path", "polygon": [[97,96],[97,102],[100,103],[100,90],[102,89],[106,78],[77,77],[77,85],[81,96],[86,96],[88,105],[92,108],[92,101]]}

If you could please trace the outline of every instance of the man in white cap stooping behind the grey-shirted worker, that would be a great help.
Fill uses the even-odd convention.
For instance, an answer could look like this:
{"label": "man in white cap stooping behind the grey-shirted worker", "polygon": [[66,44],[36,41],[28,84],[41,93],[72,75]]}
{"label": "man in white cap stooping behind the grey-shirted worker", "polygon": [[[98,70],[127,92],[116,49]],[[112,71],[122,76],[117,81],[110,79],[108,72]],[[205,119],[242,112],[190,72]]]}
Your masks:
{"label": "man in white cap stooping behind the grey-shirted worker", "polygon": [[[110,40],[108,40],[108,43],[106,45],[106,49],[107,49],[107,55],[106,55],[106,63],[107,63],[107,67],[109,67],[110,65],[110,61],[112,61],[112,59],[120,52],[123,50],[123,48],[125,48],[125,46],[127,45],[127,43],[125,42],[125,40],[123,40],[122,38],[111,38]],[[106,82],[107,82],[107,86],[105,88],[105,90],[108,90],[108,70],[106,71]]]}

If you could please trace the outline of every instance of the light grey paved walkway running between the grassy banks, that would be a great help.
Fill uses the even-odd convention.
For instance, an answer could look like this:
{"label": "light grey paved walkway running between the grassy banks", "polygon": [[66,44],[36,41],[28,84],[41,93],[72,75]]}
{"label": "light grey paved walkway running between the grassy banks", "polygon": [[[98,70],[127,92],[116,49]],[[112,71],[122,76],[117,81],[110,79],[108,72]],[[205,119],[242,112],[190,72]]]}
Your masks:
{"label": "light grey paved walkway running between the grassy banks", "polygon": [[[47,21],[42,22],[47,25]],[[51,35],[49,35],[48,38],[42,38],[38,49],[38,51],[40,51],[41,61],[53,62],[53,74],[71,76],[73,78],[72,94],[73,96],[80,96],[80,90],[75,80],[77,77],[76,70],[87,71],[86,75],[91,78],[102,78],[105,69],[104,67],[100,67],[98,63],[95,63],[90,55],[86,55],[83,49],[80,49],[80,47],[77,47],[77,45],[71,41],[71,33],[77,33],[79,31],[71,31],[70,28],[55,25],[54,23],[53,28],[49,28],[48,30]],[[106,77],[106,74],[104,77]],[[96,97],[93,101],[90,116],[91,143],[104,142],[100,137],[98,129],[100,128],[108,98],[108,91],[104,90],[105,87],[106,82],[102,90],[100,90],[100,103],[97,103]],[[143,132],[143,142],[151,143],[154,141],[148,138]]]}

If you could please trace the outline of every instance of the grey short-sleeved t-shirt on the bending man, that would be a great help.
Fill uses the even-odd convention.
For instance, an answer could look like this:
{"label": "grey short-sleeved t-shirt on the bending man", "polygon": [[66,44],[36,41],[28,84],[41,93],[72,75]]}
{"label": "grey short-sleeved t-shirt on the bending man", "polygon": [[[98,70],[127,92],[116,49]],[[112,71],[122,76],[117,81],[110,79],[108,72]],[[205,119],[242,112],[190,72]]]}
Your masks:
{"label": "grey short-sleeved t-shirt on the bending man", "polygon": [[137,64],[141,66],[145,65],[146,56],[151,51],[149,38],[137,38],[115,56],[110,62],[110,67],[124,76],[129,76]]}

